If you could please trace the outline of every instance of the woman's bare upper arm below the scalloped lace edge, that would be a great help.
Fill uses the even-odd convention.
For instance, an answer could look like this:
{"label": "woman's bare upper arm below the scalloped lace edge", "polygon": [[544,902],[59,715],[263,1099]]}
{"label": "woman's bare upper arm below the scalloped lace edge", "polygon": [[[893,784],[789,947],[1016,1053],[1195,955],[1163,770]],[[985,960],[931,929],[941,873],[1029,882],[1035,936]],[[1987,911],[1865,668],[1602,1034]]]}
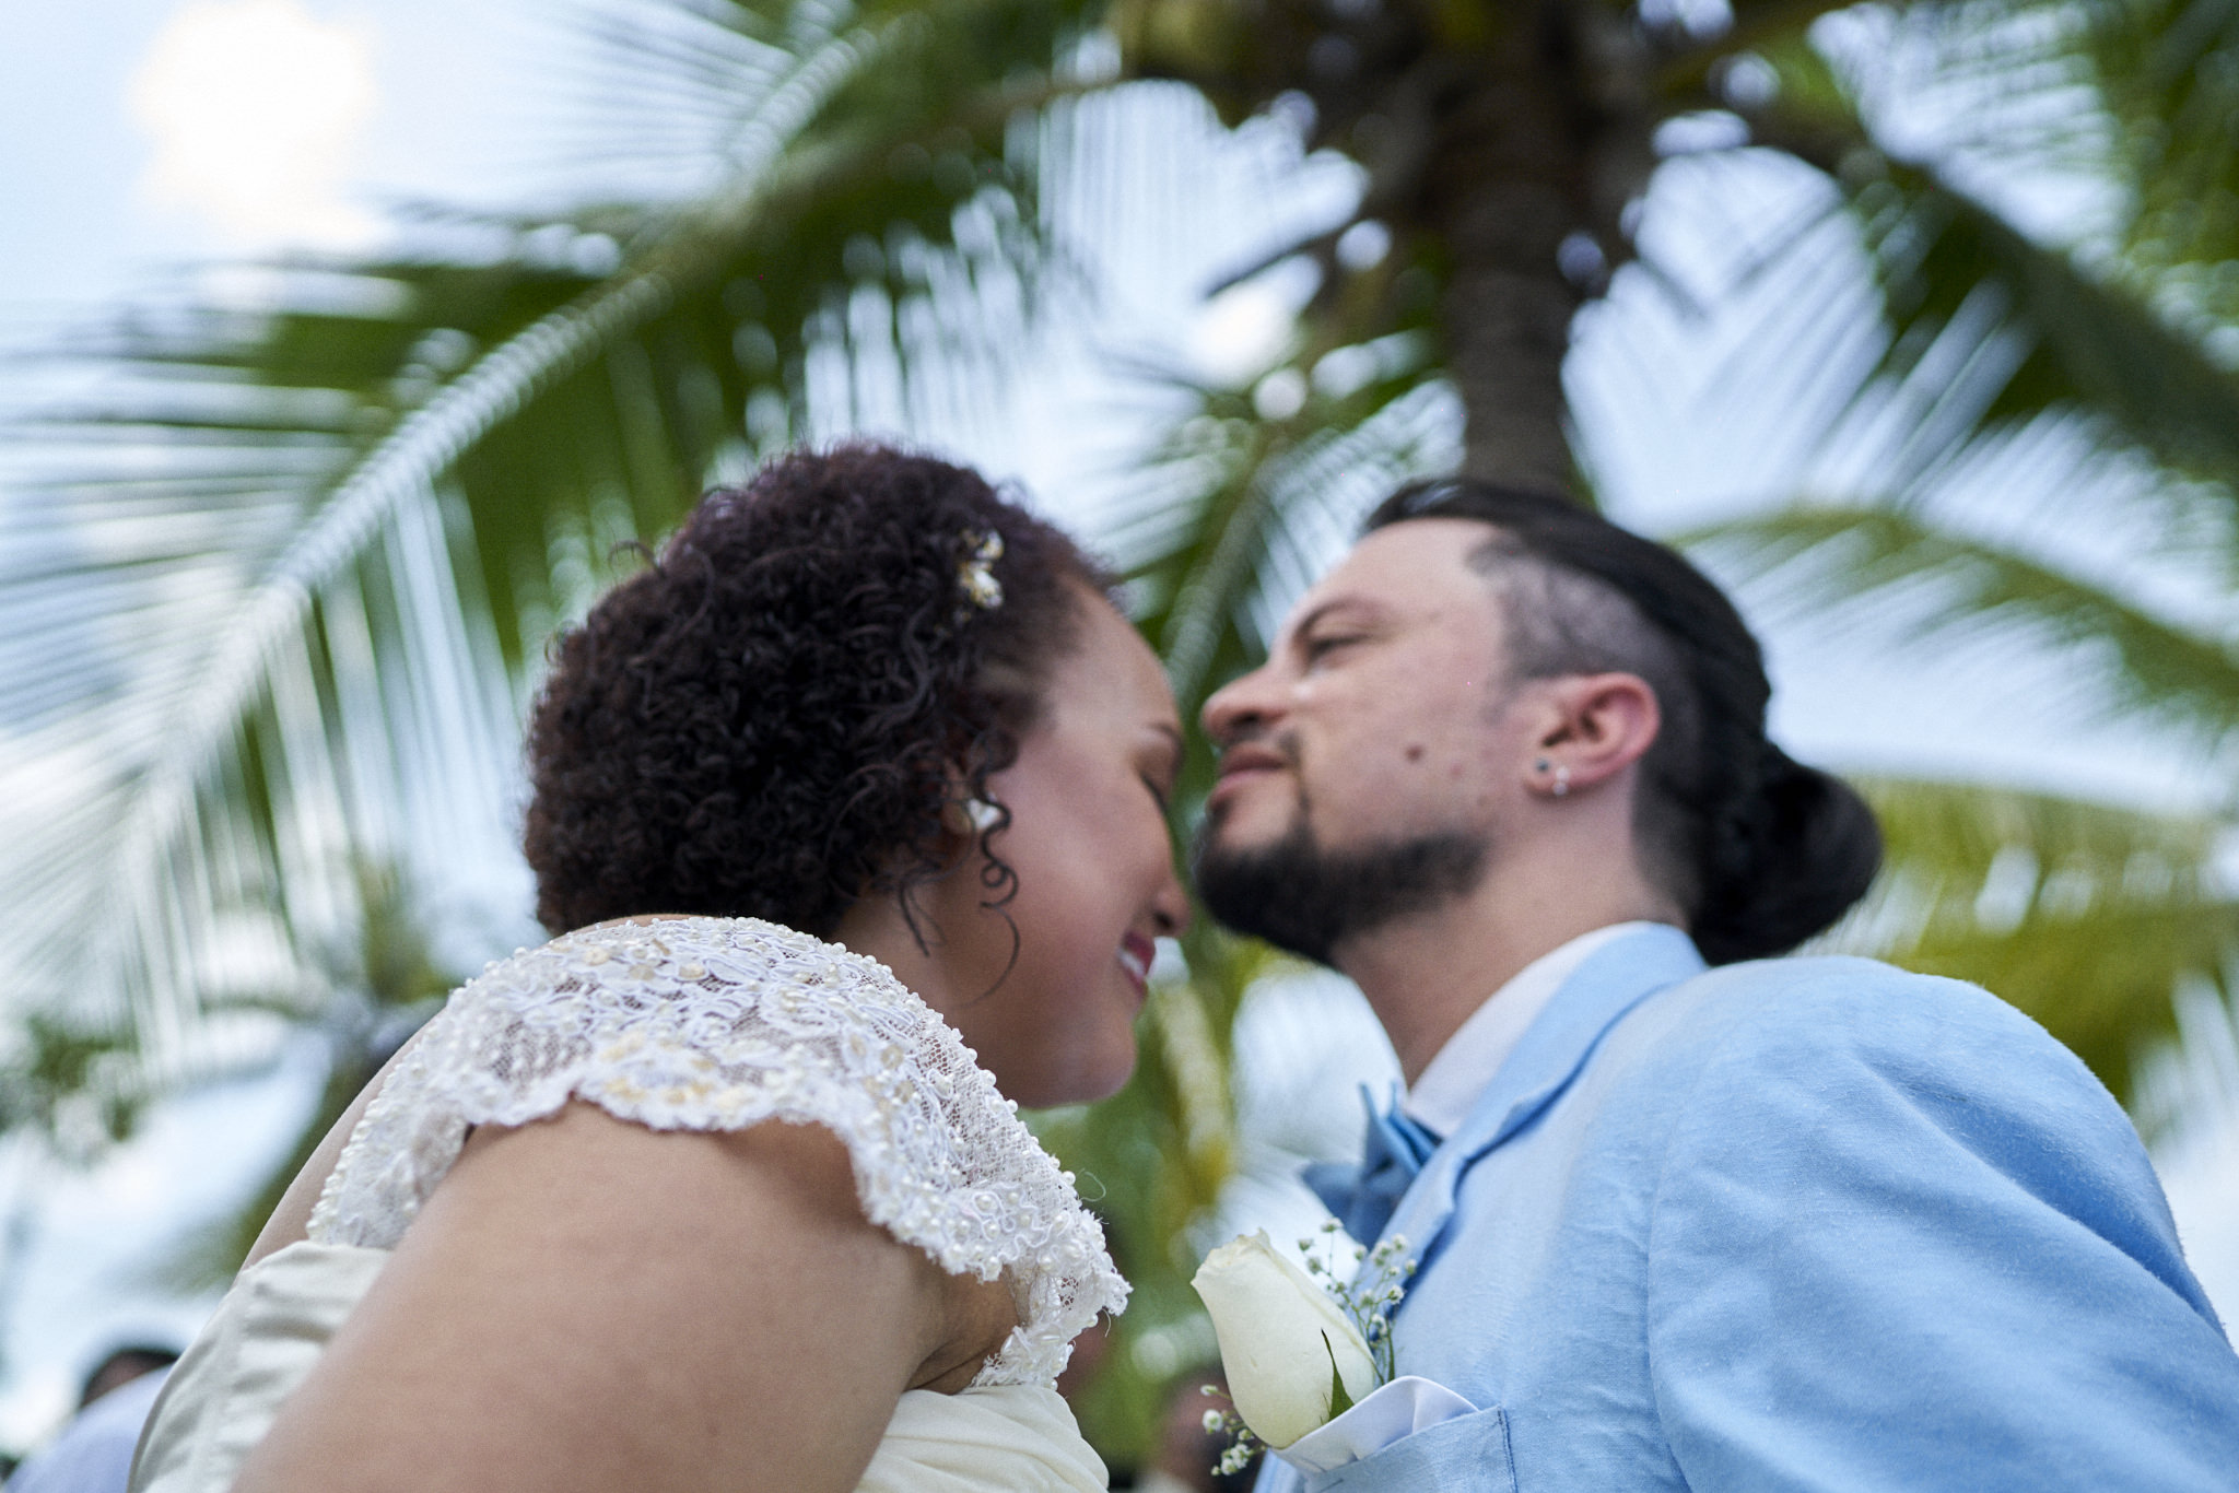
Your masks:
{"label": "woman's bare upper arm below the scalloped lace edge", "polygon": [[578,1101],[475,1133],[237,1486],[840,1493],[954,1316],[828,1130]]}

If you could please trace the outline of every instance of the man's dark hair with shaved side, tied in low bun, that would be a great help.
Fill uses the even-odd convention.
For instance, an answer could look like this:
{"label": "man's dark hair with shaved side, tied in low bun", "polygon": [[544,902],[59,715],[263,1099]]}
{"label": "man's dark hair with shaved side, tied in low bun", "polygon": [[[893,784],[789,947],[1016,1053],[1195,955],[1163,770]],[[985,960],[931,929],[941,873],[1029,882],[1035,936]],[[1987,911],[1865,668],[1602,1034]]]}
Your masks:
{"label": "man's dark hair with shaved side, tied in low bun", "polygon": [[1431,517],[1489,526],[1469,564],[1500,595],[1511,678],[1619,672],[1655,689],[1634,846],[1704,958],[1784,954],[1865,895],[1874,813],[1764,736],[1764,656],[1702,571],[1578,504],[1473,479],[1406,486],[1366,530]]}

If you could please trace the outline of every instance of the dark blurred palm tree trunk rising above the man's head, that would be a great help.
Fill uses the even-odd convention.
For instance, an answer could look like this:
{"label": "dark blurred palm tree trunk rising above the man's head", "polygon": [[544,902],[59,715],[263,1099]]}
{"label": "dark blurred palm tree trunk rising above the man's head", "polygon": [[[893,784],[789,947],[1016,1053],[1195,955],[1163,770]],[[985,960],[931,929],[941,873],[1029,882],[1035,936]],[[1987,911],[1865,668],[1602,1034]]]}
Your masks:
{"label": "dark blurred palm tree trunk rising above the man's head", "polygon": [[1628,9],[1386,4],[1310,31],[1321,40],[1292,43],[1308,63],[1337,36],[1359,58],[1337,76],[1296,74],[1319,143],[1368,168],[1364,213],[1440,284],[1435,320],[1467,412],[1462,470],[1581,495],[1563,354],[1578,307],[1626,255],[1621,213],[1652,166],[1648,54]]}

